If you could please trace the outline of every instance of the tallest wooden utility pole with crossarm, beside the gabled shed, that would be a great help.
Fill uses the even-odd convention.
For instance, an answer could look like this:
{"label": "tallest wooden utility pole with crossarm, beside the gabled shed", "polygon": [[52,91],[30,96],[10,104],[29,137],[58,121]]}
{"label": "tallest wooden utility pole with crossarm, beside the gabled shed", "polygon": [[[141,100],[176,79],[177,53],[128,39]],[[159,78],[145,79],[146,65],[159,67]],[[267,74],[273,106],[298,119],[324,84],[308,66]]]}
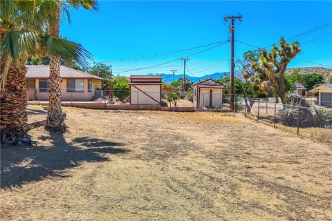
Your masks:
{"label": "tallest wooden utility pole with crossarm, beside the gabled shed", "polygon": [[225,19],[225,21],[228,21],[228,19],[232,20],[232,23],[230,24],[230,32],[232,33],[230,51],[230,109],[234,111],[234,20],[239,19],[239,21],[242,21],[242,16],[226,16],[223,19]]}

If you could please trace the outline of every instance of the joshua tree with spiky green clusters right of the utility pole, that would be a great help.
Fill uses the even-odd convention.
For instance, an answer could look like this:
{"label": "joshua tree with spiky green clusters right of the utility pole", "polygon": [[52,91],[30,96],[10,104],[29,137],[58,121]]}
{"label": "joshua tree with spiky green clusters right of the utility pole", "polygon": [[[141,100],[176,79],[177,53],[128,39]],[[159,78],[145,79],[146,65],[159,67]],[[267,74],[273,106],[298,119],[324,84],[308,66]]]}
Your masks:
{"label": "joshua tree with spiky green clusters right of the utility pole", "polygon": [[290,45],[282,37],[279,41],[279,46],[273,46],[270,52],[265,49],[259,50],[258,61],[248,57],[253,72],[244,72],[243,77],[246,79],[249,78],[260,91],[267,91],[269,86],[272,86],[275,93],[284,103],[286,102],[284,73],[286,72],[289,62],[291,62],[300,51],[301,47],[297,41],[294,41],[293,44]]}

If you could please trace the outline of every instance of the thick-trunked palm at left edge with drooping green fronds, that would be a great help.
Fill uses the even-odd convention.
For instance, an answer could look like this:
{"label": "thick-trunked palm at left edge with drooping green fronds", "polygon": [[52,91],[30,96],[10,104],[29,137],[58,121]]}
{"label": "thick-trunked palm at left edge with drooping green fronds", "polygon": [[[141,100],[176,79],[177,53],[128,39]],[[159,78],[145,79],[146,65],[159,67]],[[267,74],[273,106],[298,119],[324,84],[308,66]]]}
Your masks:
{"label": "thick-trunked palm at left edge with drooping green fronds", "polygon": [[26,68],[28,56],[61,56],[86,63],[89,57],[80,44],[49,35],[47,27],[55,22],[57,1],[0,1],[0,135],[1,143],[27,140]]}

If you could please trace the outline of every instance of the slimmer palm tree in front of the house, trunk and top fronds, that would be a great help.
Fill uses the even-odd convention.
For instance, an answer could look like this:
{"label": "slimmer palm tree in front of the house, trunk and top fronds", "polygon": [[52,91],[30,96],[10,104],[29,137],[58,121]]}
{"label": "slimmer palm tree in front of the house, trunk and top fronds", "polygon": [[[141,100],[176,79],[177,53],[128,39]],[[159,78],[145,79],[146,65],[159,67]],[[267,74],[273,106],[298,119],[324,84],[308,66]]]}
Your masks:
{"label": "slimmer palm tree in front of the house, trunk and top fronds", "polygon": [[[59,0],[61,1],[61,0]],[[70,4],[74,8],[83,7],[85,9],[97,9],[94,0],[68,0],[64,2]],[[59,37],[59,19],[60,9],[55,6],[55,22],[50,26],[50,35]],[[66,12],[68,15],[68,11]],[[60,78],[60,57],[50,56],[50,84],[48,92],[48,112],[46,117],[46,131],[66,132],[66,124],[64,123],[64,115],[61,107],[61,78]]]}

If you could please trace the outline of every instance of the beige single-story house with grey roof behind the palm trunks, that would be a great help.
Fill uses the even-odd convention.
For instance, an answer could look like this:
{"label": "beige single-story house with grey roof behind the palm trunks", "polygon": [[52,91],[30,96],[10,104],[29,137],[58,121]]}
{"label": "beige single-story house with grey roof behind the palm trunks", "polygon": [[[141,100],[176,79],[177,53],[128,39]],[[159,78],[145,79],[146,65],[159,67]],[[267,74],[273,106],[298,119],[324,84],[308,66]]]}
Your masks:
{"label": "beige single-story house with grey roof behind the palm trunks", "polygon": [[[26,79],[28,81],[29,100],[48,100],[48,84],[50,67],[28,65]],[[91,101],[102,97],[102,77],[90,75],[80,70],[60,66],[61,93],[63,101]]]}

